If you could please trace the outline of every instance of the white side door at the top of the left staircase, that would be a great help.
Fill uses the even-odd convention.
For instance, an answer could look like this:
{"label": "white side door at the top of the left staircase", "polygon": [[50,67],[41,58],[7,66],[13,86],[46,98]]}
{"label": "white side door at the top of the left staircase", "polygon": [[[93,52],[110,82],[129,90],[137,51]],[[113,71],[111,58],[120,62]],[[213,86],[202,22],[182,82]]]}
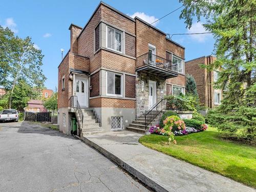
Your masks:
{"label": "white side door at the top of the left staircase", "polygon": [[87,86],[87,78],[76,77],[75,80],[75,95],[77,96],[77,100],[79,105],[82,107],[88,107],[88,86]]}

